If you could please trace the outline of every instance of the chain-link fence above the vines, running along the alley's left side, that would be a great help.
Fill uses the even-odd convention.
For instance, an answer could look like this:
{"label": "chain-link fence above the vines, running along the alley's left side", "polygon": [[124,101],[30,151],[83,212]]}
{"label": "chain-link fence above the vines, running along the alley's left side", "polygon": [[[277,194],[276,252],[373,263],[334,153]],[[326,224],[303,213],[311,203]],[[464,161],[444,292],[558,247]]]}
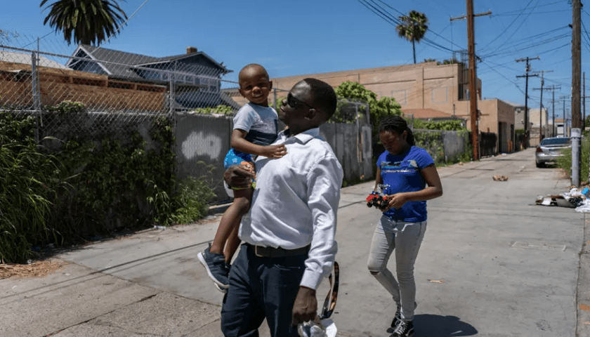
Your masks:
{"label": "chain-link fence above the vines, running along the alley's left side", "polygon": [[[221,177],[230,117],[247,103],[236,82],[222,79],[229,72],[223,62],[192,47],[154,57],[0,34],[0,110],[34,117],[37,140],[51,136],[58,139],[55,146],[74,138],[124,143],[131,133],[140,133],[149,148],[150,131],[163,117],[176,136],[177,175],[209,175],[218,200],[225,199]],[[273,90],[269,105],[278,110],[287,93]],[[321,130],[345,178],[371,178],[368,105],[342,100],[336,117],[339,126]]]}

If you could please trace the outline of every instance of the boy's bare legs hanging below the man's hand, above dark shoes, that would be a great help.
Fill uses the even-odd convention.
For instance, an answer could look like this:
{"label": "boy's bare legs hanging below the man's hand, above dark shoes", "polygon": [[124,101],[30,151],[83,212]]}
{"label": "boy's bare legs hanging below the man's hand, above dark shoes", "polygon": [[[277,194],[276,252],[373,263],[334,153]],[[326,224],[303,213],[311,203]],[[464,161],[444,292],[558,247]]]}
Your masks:
{"label": "boy's bare legs hanging below the man's hand, above dark shoes", "polygon": [[[228,239],[230,239],[231,234],[234,231],[235,239],[237,239],[237,228],[240,227],[242,216],[244,216],[244,214],[246,214],[250,209],[250,201],[252,199],[253,192],[254,190],[251,188],[245,190],[234,190],[234,202],[225,211],[225,213],[223,213],[223,217],[221,217],[221,222],[219,223],[219,227],[215,233],[215,238],[213,239],[213,243],[209,248],[211,253],[223,254],[224,251],[228,251],[225,249],[225,242],[228,242]],[[236,243],[234,242],[233,244],[235,245]],[[240,239],[237,239],[237,245],[239,244]],[[232,248],[231,256],[233,256],[233,253],[235,253],[237,250],[237,245]],[[228,261],[227,256],[225,257],[225,261]]]}

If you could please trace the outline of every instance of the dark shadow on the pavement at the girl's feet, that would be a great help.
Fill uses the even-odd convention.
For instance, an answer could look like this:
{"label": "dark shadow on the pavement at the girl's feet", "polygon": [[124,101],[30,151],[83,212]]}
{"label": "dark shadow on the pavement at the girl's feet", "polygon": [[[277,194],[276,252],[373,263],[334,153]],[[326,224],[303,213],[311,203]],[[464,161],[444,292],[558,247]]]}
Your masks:
{"label": "dark shadow on the pavement at the girl's feet", "polygon": [[[387,332],[393,332],[391,330]],[[440,315],[414,316],[414,331],[415,337],[473,336],[478,333],[470,324],[461,322],[459,317]]]}

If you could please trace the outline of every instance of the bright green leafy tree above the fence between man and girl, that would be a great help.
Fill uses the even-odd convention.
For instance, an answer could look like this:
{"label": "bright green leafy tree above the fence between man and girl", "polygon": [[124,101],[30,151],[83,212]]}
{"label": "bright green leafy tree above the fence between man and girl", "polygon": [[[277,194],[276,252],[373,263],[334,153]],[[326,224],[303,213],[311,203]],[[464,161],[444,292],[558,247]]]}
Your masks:
{"label": "bright green leafy tree above the fence between man and girl", "polygon": [[[402,106],[400,103],[395,102],[394,98],[382,97],[380,100],[377,100],[376,93],[370,91],[369,89],[365,88],[365,86],[362,86],[362,84],[357,82],[342,82],[336,87],[335,91],[339,98],[339,107],[346,104],[346,100],[350,100],[352,102],[369,103],[371,124],[373,125],[374,134],[376,134],[376,131],[379,128],[379,123],[381,123],[381,119],[383,119],[383,117],[392,114],[400,116],[402,114]],[[366,109],[365,106],[359,107],[360,111],[364,109]],[[339,108],[336,110],[332,120],[342,121],[342,119],[344,119],[342,109]]]}

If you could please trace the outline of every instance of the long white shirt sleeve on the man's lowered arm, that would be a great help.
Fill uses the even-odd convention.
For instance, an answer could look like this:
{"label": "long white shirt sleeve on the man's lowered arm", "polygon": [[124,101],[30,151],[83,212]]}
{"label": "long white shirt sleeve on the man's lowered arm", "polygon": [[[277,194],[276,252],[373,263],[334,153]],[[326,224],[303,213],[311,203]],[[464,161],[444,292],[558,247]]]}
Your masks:
{"label": "long white shirt sleeve on the man's lowered arm", "polygon": [[338,251],[334,235],[342,178],[342,167],[332,154],[317,161],[308,174],[308,207],[313,219],[313,236],[301,286],[317,289],[322,278],[332,272]]}

